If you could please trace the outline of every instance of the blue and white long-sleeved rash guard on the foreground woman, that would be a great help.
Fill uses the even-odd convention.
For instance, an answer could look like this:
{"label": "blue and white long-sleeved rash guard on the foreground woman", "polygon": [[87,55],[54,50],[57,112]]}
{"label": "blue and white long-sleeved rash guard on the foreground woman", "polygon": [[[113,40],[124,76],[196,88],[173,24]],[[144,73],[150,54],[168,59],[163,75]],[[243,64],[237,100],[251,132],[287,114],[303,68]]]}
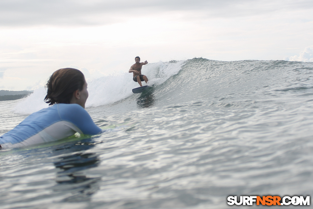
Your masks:
{"label": "blue and white long-sleeved rash guard on the foreground woman", "polygon": [[24,147],[57,141],[76,132],[95,135],[101,131],[80,105],[56,104],[29,115],[18,126],[0,137],[0,145],[3,148]]}

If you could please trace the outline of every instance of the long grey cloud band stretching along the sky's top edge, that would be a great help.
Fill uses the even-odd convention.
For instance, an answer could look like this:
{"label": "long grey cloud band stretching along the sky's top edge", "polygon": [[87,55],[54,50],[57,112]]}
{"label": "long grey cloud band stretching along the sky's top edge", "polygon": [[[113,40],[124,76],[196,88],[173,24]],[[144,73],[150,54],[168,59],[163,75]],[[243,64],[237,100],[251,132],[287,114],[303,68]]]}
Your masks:
{"label": "long grey cloud band stretching along the sky's top edge", "polygon": [[1,0],[0,25],[103,25],[167,11],[202,11],[211,17],[251,16],[313,8],[311,0]]}

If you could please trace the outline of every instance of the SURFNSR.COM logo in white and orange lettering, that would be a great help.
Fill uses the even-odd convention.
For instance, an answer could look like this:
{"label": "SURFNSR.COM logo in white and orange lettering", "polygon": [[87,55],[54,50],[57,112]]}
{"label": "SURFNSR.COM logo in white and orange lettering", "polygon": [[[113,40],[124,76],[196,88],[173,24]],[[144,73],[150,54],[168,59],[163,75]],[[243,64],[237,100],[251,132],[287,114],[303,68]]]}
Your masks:
{"label": "SURFNSR.COM logo in white and orange lettering", "polygon": [[310,196],[229,196],[227,197],[228,205],[253,205],[255,202],[256,205],[310,205]]}

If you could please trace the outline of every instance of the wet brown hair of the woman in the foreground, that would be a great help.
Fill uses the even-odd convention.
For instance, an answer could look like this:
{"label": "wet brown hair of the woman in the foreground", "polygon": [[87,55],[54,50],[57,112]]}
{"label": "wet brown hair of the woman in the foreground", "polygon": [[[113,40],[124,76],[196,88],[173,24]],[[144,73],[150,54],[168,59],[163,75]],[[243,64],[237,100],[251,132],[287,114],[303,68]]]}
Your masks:
{"label": "wet brown hair of the woman in the foreground", "polygon": [[55,71],[46,84],[47,96],[44,98],[49,105],[69,104],[74,91],[83,90],[85,76],[74,68],[62,68]]}

